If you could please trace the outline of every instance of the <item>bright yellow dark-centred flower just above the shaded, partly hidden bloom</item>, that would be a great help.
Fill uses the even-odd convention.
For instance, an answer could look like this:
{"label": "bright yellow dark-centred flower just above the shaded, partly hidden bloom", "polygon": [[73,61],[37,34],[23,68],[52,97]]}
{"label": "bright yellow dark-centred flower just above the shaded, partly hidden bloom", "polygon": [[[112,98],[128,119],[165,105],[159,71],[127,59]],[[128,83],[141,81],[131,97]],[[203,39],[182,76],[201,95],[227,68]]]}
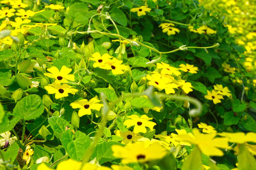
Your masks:
{"label": "bright yellow dark-centred flower just above the shaded, partly hidden bloom", "polygon": [[130,119],[125,120],[124,125],[126,125],[127,128],[134,126],[133,131],[136,134],[140,132],[142,133],[147,132],[146,127],[148,127],[150,131],[153,131],[153,128],[156,125],[155,122],[148,121],[148,120],[152,120],[152,118],[149,118],[146,115],[142,115],[141,117],[138,117],[138,115],[131,115],[128,118]]}

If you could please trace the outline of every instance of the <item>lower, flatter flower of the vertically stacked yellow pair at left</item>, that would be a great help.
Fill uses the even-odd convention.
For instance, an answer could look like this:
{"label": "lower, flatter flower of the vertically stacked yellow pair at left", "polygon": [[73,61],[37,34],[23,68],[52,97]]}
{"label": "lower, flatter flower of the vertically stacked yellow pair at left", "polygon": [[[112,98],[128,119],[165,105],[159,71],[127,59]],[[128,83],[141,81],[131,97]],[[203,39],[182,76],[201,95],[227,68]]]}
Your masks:
{"label": "lower, flatter flower of the vertically stacked yellow pair at left", "polygon": [[61,97],[67,97],[68,93],[76,94],[76,92],[78,92],[77,89],[72,89],[70,85],[61,85],[55,82],[45,86],[44,89],[47,90],[49,94],[55,94],[56,99],[60,99]]}

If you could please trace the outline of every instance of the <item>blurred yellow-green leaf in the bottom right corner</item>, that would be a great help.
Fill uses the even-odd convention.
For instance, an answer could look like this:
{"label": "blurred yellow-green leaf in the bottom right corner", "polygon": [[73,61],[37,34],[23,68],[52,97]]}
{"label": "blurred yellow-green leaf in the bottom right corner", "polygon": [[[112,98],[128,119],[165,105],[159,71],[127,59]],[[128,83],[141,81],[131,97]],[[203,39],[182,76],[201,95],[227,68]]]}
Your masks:
{"label": "blurred yellow-green leaf in the bottom right corner", "polygon": [[238,155],[238,170],[248,170],[256,167],[256,160],[253,155],[248,151],[246,145],[239,146]]}

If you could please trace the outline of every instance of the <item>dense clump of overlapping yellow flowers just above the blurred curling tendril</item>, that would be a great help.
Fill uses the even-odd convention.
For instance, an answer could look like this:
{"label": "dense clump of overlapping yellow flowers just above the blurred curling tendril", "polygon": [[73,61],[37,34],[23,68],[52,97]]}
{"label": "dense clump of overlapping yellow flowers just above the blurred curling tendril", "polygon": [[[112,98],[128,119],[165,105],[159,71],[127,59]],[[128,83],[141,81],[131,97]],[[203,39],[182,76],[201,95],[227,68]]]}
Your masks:
{"label": "dense clump of overlapping yellow flowers just above the blurred curling tendril", "polygon": [[157,90],[165,90],[166,94],[175,94],[175,89],[182,89],[186,94],[193,91],[191,83],[182,80],[180,70],[189,73],[196,73],[197,67],[189,64],[180,64],[180,68],[172,67],[164,62],[157,63],[156,71],[147,74],[148,85],[154,86]]}

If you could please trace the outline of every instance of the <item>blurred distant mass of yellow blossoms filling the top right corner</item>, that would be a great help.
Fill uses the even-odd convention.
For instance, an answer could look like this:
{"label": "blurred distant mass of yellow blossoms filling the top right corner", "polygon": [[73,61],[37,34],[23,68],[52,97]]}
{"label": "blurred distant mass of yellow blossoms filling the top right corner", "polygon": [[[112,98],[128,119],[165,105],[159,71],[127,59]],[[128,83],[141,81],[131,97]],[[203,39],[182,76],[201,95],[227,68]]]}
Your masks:
{"label": "blurred distant mass of yellow blossoms filling the top right corner", "polygon": [[244,66],[247,71],[255,73],[255,2],[243,0],[200,0],[199,2],[204,8],[207,8],[207,10],[216,11],[216,13],[222,16],[225,15],[225,23],[227,23],[228,31],[234,35],[239,45],[243,45],[246,48],[246,52],[244,52],[244,55],[246,55]]}

